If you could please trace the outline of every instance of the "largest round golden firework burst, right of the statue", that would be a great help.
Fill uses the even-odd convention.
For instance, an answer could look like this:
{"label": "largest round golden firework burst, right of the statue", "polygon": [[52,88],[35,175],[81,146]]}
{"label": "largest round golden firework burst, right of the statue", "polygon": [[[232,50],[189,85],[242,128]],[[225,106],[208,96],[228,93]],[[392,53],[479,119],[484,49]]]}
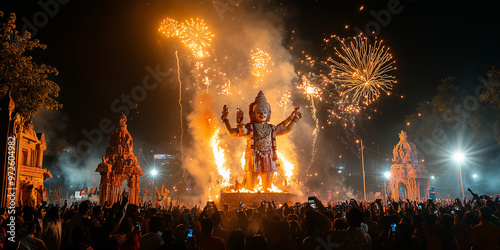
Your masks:
{"label": "largest round golden firework burst, right of the statue", "polygon": [[370,42],[361,35],[350,42],[337,40],[340,48],[335,48],[335,54],[340,61],[328,58],[328,62],[332,68],[331,76],[341,84],[343,94],[350,96],[353,103],[365,106],[377,100],[381,93],[390,94],[397,81],[389,73],[396,68],[383,41],[374,39]]}

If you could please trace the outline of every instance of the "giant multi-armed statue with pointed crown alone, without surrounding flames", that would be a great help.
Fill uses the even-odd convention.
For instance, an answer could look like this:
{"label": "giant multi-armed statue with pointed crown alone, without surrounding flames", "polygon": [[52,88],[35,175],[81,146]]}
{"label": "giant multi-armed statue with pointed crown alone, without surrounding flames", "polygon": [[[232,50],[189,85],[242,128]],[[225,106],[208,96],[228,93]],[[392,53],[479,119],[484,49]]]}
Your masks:
{"label": "giant multi-armed statue with pointed crown alone, without surrounding flames", "polygon": [[228,108],[224,105],[222,122],[230,136],[244,137],[247,140],[245,150],[245,187],[253,190],[257,178],[262,179],[264,191],[272,186],[273,173],[278,165],[276,136],[285,135],[292,131],[295,124],[302,118],[299,107],[278,125],[268,124],[271,119],[271,106],[266,100],[264,92],[260,91],[255,101],[249,106],[250,123],[243,123],[244,113],[238,109],[236,114],[237,127],[232,128],[228,116]]}

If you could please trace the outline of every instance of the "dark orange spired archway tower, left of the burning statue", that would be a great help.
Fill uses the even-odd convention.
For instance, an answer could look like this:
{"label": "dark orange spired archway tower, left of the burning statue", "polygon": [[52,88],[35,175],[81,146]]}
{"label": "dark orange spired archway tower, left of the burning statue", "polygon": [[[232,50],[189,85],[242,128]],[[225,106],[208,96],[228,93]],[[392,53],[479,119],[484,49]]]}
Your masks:
{"label": "dark orange spired archway tower, left of the burning statue", "polygon": [[127,117],[123,115],[116,130],[111,134],[106,155],[102,157],[96,172],[101,174],[99,202],[111,204],[118,201],[120,186],[127,180],[129,203],[139,203],[139,180],[142,169],[134,155],[133,139],[127,130]]}

